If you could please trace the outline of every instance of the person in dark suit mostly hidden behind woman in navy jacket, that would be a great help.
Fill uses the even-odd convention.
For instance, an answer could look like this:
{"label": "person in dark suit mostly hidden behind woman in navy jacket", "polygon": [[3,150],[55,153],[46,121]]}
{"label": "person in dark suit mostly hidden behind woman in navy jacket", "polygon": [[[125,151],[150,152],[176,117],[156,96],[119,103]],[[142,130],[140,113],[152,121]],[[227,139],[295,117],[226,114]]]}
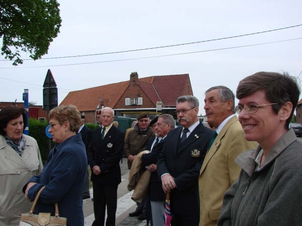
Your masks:
{"label": "person in dark suit mostly hidden behind woman in navy jacket", "polygon": [[[81,116],[81,127],[79,129],[79,133],[81,134],[82,141],[85,144],[86,153],[87,153],[88,145],[91,139],[91,131],[87,126],[85,126],[85,116]],[[83,199],[90,198],[89,182],[90,182],[89,173],[87,171],[85,185],[84,185]]]}

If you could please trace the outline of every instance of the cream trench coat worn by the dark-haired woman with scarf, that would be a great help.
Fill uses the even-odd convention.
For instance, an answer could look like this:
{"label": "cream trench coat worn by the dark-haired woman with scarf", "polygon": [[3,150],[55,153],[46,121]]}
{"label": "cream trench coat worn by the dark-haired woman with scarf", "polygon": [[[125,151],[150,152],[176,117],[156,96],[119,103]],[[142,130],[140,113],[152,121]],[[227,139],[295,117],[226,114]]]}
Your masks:
{"label": "cream trench coat worn by the dark-haired woman with scarf", "polygon": [[29,211],[32,203],[22,192],[23,186],[41,173],[43,165],[36,140],[25,136],[22,157],[0,135],[0,225],[19,225],[21,213]]}

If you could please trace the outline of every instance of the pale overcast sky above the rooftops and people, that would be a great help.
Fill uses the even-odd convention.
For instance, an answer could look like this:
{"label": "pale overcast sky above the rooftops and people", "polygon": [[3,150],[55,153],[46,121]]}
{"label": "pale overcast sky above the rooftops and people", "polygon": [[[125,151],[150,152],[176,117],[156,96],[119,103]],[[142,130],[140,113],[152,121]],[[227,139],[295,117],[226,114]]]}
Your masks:
{"label": "pale overcast sky above the rooftops and people", "polygon": [[[128,81],[134,71],[139,78],[188,73],[204,114],[204,91],[211,86],[236,92],[241,79],[258,71],[296,77],[302,71],[302,26],[264,32],[302,24],[300,0],[59,3],[60,33],[43,58],[98,55],[26,60],[17,67],[0,61],[0,101],[22,102],[29,89],[29,101],[42,105],[48,69],[58,103],[69,91]],[[258,32],[264,33],[241,36]],[[207,41],[234,36],[241,37]],[[171,45],[178,46],[101,54]]]}

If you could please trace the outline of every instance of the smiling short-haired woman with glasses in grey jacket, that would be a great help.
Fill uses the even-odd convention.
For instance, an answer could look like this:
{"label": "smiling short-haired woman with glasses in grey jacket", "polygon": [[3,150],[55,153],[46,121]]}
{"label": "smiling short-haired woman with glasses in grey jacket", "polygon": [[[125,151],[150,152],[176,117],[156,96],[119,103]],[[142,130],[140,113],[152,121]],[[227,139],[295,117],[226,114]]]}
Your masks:
{"label": "smiling short-haired woman with glasses in grey jacket", "polygon": [[225,192],[217,225],[301,225],[302,142],[288,129],[300,90],[287,73],[257,72],[239,82],[239,122],[256,149],[241,153],[242,168]]}

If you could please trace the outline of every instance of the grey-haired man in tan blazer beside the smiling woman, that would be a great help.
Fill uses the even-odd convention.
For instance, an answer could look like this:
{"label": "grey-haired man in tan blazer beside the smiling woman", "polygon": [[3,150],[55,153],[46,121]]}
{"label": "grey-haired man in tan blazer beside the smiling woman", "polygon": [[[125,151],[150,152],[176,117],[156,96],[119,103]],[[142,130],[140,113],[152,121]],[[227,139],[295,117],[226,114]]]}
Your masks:
{"label": "grey-haired man in tan blazer beside the smiling woman", "polygon": [[241,152],[257,146],[256,142],[248,142],[244,137],[235,115],[235,95],[232,90],[225,86],[211,87],[205,92],[204,103],[207,123],[217,128],[217,137],[209,146],[200,169],[199,226],[216,225],[223,194],[238,178],[241,170],[235,158]]}

